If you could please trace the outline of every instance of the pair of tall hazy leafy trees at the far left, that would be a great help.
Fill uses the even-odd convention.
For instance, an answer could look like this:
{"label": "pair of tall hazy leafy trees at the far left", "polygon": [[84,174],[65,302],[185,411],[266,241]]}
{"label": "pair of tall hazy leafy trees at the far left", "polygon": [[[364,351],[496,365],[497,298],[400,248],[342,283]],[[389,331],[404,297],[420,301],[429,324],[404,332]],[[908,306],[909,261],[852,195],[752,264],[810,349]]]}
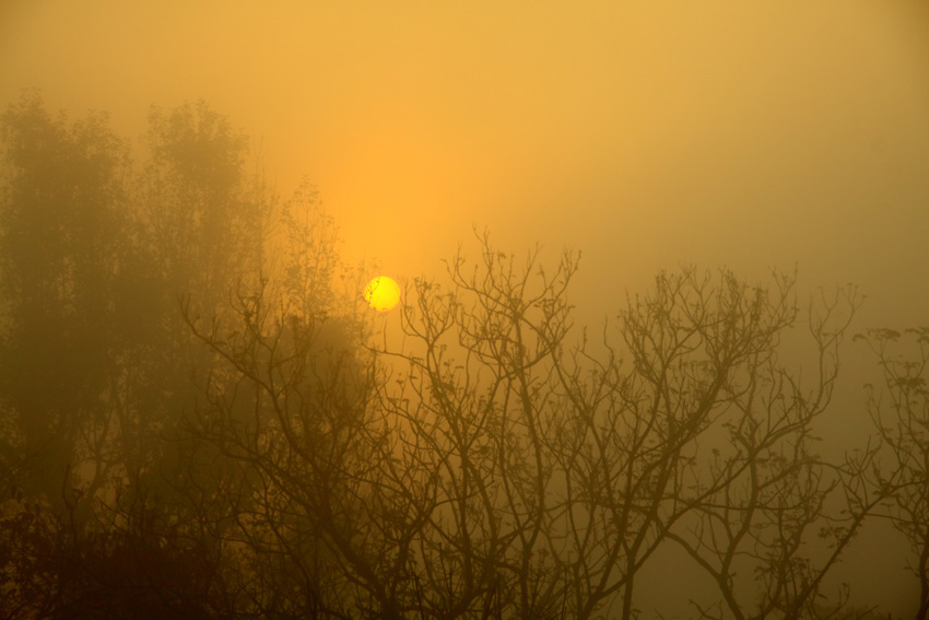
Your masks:
{"label": "pair of tall hazy leafy trees at the far left", "polygon": [[16,569],[0,607],[24,617],[127,612],[120,593],[138,605],[138,588],[177,589],[181,575],[196,593],[191,558],[215,560],[177,529],[215,516],[181,476],[199,348],[179,300],[196,291],[212,313],[256,285],[269,195],[205,105],[154,112],[150,141],[133,171],[104,115],[71,122],[28,94],[2,117],[0,563]]}

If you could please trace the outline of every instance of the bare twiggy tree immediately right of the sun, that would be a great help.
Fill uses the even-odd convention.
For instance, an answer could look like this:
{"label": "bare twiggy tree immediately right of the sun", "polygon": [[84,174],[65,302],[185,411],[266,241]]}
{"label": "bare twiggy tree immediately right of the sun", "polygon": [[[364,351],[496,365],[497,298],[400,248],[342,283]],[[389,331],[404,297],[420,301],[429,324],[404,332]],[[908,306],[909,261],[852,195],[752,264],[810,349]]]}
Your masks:
{"label": "bare twiggy tree immediately right of the sun", "polygon": [[400,420],[400,470],[425,490],[416,581],[435,616],[565,616],[553,367],[575,270],[566,254],[546,274],[537,253],[520,262],[484,235],[479,265],[449,262],[450,290],[416,282],[408,346],[385,352],[407,364],[383,402]]}

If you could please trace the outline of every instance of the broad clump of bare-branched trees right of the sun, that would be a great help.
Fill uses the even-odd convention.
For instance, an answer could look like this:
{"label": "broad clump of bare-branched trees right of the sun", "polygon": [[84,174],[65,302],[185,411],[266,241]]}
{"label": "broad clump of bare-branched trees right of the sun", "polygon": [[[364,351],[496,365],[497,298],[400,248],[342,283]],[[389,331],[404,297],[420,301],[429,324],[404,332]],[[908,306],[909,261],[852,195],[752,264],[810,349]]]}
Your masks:
{"label": "broad clump of bare-branched trees right of the sun", "polygon": [[[632,618],[636,575],[675,541],[731,612],[744,607],[736,563],[761,577],[761,615],[809,611],[878,501],[862,478],[870,453],[833,466],[809,449],[854,294],[811,317],[820,374],[807,387],[777,359],[798,314],[790,277],[768,289],[661,274],[597,354],[568,340],[574,256],[546,277],[534,254],[519,264],[480,241],[477,266],[449,265],[449,291],[418,282],[399,353],[409,370],[386,399],[403,420],[403,471],[436,489],[420,552],[442,561],[431,585],[461,609],[590,618],[621,599]],[[830,516],[838,495],[847,518]],[[815,569],[811,531],[833,546]]]}

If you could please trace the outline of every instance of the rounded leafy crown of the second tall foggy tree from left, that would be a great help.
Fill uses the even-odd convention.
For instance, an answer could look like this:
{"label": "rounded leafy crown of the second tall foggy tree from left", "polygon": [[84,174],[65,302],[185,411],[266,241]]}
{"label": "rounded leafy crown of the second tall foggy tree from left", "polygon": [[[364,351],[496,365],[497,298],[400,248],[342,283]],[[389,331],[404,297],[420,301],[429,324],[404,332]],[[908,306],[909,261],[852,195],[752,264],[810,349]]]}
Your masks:
{"label": "rounded leafy crown of the second tall foggy tree from left", "polygon": [[149,126],[141,179],[145,239],[168,294],[196,291],[210,314],[232,285],[257,281],[267,188],[244,171],[246,137],[205,103],[153,108]]}

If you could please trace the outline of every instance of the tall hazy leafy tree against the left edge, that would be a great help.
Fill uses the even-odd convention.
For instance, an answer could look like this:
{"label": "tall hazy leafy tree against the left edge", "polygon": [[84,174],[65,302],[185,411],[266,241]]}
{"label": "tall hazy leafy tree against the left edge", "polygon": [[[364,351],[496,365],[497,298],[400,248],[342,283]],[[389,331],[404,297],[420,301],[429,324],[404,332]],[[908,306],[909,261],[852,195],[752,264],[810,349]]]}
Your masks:
{"label": "tall hazy leafy tree against the left edge", "polygon": [[[5,191],[0,352],[8,461],[30,459],[31,490],[57,498],[80,471],[99,487],[132,305],[126,143],[103,115],[69,124],[36,95],[2,117]],[[10,441],[12,440],[12,441]]]}

